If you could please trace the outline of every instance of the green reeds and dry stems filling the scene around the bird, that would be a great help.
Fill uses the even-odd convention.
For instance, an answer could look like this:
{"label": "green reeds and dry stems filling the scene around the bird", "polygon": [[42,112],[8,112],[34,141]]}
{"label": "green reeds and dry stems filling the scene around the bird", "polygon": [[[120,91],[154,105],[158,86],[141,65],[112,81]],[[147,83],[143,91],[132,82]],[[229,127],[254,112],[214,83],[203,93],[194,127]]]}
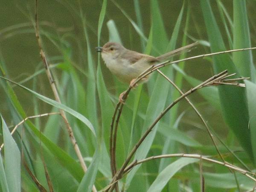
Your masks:
{"label": "green reeds and dry stems filling the scene around the bird", "polygon": [[[90,2],[54,2],[75,20],[71,29],[41,19],[48,4],[37,0],[35,12],[17,5],[29,23],[0,29],[0,42],[31,35],[41,55],[20,81],[11,74],[23,67],[0,57],[0,189],[253,192],[255,0],[184,1],[178,14],[170,7],[176,0],[134,0],[129,11],[103,0],[97,17],[85,11]],[[135,83],[152,77],[134,88],[97,55],[107,36],[154,56],[199,44],[145,71]]]}

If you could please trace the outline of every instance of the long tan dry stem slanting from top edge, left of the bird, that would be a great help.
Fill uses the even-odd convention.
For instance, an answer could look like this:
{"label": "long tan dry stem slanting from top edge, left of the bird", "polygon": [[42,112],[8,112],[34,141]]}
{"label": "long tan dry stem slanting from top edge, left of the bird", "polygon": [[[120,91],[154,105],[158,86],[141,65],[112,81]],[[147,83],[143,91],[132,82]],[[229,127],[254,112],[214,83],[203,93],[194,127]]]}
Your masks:
{"label": "long tan dry stem slanting from top edge, left of the bird", "polygon": [[[43,50],[43,47],[42,47],[42,44],[41,44],[41,38],[40,38],[40,34],[39,34],[39,24],[38,24],[38,0],[35,0],[35,36],[36,36],[37,41],[38,41],[38,46],[39,46],[39,49],[40,49],[40,55],[41,55],[42,61],[44,63],[46,74],[47,74],[50,86],[52,88],[52,92],[54,94],[55,100],[57,102],[61,103],[60,97],[58,95],[57,87],[55,85],[55,81],[53,80],[52,74],[51,74],[51,72],[49,70],[49,64],[47,62],[47,58],[45,56],[45,53],[44,53],[44,50]],[[70,126],[70,124],[69,124],[69,122],[67,120],[66,114],[61,109],[59,109],[59,111],[61,113],[62,118],[64,119],[65,124],[66,124],[67,131],[68,131],[71,143],[73,144],[73,147],[75,149],[75,152],[76,152],[76,155],[77,155],[77,157],[79,159],[81,167],[84,170],[84,172],[86,172],[87,171],[87,166],[86,166],[86,164],[84,162],[84,158],[83,158],[83,156],[81,154],[79,146],[76,143],[76,139],[74,137],[73,130],[72,130],[72,128],[71,128],[71,126]],[[93,192],[96,192],[96,191],[97,191],[96,187],[93,185]]]}

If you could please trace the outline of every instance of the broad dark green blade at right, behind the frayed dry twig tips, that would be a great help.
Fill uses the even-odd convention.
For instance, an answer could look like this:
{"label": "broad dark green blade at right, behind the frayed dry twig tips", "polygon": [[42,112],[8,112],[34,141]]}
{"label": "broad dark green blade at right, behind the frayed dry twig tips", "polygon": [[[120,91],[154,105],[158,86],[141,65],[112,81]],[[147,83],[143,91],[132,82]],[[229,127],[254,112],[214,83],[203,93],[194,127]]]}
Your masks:
{"label": "broad dark green blade at right, behind the frayed dry twig tips", "polygon": [[[207,35],[211,44],[211,51],[218,52],[225,50],[221,32],[219,31],[215,17],[212,13],[209,0],[201,0],[201,8],[203,11]],[[229,73],[237,73],[236,67],[227,54],[215,55],[213,57],[213,63],[215,73],[226,69]],[[239,74],[236,75],[235,78],[239,78]],[[251,141],[248,139],[250,138],[250,132],[247,129],[249,119],[245,90],[240,87],[231,86],[219,86],[218,90],[224,119],[233,130],[241,146],[252,158]]]}

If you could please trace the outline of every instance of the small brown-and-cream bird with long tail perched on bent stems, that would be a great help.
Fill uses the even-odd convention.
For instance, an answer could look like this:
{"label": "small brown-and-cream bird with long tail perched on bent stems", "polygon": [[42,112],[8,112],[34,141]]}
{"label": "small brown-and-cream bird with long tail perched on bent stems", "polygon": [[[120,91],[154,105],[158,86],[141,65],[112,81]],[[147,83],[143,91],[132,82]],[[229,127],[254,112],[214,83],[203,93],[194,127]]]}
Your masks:
{"label": "small brown-and-cream bird with long tail perched on bent stems", "polygon": [[[166,61],[181,52],[188,51],[197,44],[198,42],[195,42],[185,47],[167,52],[158,57],[126,49],[116,42],[108,42],[104,44],[103,47],[96,47],[96,49],[98,49],[97,52],[101,52],[102,59],[106,66],[111,73],[119,79],[119,81],[130,84],[130,86],[134,86],[134,80],[149,67]],[[142,83],[146,82],[148,78],[149,75],[143,78]],[[125,92],[120,94],[119,102],[123,102],[122,96],[124,93]]]}

